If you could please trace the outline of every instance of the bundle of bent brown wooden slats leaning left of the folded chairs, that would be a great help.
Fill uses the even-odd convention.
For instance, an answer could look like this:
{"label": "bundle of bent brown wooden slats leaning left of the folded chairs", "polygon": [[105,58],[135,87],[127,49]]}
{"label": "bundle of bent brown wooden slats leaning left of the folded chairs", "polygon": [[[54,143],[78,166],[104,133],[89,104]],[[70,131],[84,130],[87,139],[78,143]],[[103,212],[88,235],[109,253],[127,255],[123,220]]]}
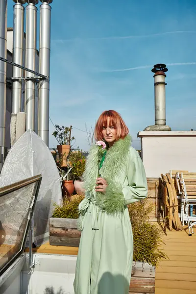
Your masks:
{"label": "bundle of bent brown wooden slats leaning left of the folded chairs", "polygon": [[183,230],[178,214],[176,189],[170,173],[166,173],[166,175],[161,174],[160,190],[162,194],[163,213],[166,225],[171,231],[173,227],[177,231]]}

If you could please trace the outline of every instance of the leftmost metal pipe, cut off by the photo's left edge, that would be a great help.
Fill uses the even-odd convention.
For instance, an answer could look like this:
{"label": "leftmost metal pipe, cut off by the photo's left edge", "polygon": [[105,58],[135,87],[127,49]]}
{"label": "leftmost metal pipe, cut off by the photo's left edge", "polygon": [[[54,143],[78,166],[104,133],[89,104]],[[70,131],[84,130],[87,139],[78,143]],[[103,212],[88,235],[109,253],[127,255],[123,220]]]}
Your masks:
{"label": "leftmost metal pipe, cut off by the photo's left edge", "polygon": [[[0,0],[0,57],[7,56],[7,0]],[[5,147],[6,63],[0,61],[0,149]],[[0,154],[0,171],[3,159]]]}

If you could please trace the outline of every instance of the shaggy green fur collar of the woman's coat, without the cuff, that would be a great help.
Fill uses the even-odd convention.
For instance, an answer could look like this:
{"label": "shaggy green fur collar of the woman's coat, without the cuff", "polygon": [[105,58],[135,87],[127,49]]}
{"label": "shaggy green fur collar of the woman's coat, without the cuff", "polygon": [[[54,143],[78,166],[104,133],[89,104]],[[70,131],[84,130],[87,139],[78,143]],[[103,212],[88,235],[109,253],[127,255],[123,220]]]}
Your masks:
{"label": "shaggy green fur collar of the woman's coat, without the cuff", "polygon": [[[127,135],[124,139],[115,142],[107,150],[105,160],[99,171],[101,177],[111,183],[126,163],[129,147],[131,145],[131,136]],[[83,174],[84,187],[86,192],[93,191],[98,177],[98,146],[91,147],[86,161],[86,169]],[[100,194],[100,193],[96,193]]]}

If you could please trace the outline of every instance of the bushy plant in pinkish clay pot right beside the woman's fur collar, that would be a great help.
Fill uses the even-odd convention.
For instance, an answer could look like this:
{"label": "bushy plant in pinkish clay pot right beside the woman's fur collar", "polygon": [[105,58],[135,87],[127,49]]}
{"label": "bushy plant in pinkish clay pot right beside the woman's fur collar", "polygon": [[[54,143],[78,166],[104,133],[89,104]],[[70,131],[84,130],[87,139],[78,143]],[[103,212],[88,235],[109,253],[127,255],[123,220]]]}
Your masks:
{"label": "bushy plant in pinkish clay pot right beside the woman's fur collar", "polygon": [[77,195],[85,196],[85,190],[82,187],[82,174],[85,170],[86,159],[82,154],[82,150],[73,151],[70,154],[70,162],[72,163],[72,174],[74,179],[74,188]]}

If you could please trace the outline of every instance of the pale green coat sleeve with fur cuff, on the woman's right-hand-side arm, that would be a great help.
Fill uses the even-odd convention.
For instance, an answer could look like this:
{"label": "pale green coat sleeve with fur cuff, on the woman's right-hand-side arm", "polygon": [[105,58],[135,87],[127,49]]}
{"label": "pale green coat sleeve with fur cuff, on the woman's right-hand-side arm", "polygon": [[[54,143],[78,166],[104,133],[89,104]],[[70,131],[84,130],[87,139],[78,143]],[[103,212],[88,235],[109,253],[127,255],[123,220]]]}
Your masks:
{"label": "pale green coat sleeve with fur cuff, on the woman's right-hand-side arm", "polygon": [[[104,196],[98,197],[98,205],[108,214],[123,212],[125,205],[139,201],[147,196],[147,178],[143,162],[133,148],[126,165],[127,185],[107,180]],[[99,194],[99,193],[98,193]]]}

